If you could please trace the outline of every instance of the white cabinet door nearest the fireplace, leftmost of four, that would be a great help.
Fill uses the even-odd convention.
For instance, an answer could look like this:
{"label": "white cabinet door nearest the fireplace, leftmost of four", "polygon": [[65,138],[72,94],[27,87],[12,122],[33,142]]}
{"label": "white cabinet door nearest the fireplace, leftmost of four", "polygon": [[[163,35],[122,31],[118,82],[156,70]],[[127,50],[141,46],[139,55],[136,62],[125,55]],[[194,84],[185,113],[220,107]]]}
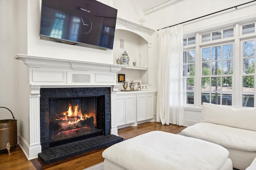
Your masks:
{"label": "white cabinet door nearest the fireplace, leftmost of four", "polygon": [[125,125],[125,97],[116,97],[116,125]]}

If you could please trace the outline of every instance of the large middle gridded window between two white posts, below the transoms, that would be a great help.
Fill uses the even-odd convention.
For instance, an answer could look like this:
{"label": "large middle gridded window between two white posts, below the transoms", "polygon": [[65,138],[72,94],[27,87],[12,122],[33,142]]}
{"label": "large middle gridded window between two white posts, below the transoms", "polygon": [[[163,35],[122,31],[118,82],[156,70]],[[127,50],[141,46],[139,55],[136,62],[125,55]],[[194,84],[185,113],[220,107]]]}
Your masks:
{"label": "large middle gridded window between two white posts, below the transoms", "polygon": [[232,105],[233,44],[202,48],[202,102]]}

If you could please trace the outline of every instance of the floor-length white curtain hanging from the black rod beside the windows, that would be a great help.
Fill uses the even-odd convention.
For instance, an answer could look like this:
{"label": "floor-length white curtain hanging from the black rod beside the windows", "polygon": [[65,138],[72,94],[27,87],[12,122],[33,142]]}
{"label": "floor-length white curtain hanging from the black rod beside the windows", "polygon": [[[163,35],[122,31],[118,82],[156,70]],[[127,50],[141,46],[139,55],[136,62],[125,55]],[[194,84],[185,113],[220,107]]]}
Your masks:
{"label": "floor-length white curtain hanging from the black rod beside the windows", "polygon": [[183,27],[158,30],[158,95],[156,121],[184,125]]}

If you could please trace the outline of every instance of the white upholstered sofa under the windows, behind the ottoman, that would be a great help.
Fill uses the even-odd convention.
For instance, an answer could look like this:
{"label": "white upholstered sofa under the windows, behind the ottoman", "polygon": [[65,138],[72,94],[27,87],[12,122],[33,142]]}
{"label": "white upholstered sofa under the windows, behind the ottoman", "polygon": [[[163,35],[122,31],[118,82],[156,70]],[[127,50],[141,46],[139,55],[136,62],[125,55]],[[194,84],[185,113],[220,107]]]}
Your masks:
{"label": "white upholstered sofa under the windows, behind the ottoman", "polygon": [[203,103],[201,122],[182,134],[225,147],[233,167],[245,170],[256,157],[256,108]]}

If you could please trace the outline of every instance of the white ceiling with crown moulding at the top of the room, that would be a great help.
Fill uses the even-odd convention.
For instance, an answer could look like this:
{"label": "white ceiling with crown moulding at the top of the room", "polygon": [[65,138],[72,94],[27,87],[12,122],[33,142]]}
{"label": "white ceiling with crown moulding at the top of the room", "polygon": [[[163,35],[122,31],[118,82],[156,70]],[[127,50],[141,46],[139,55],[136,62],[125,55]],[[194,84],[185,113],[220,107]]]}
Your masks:
{"label": "white ceiling with crown moulding at the top of the room", "polygon": [[143,13],[144,15],[174,5],[181,1],[183,0],[133,0],[139,10],[138,12]]}

